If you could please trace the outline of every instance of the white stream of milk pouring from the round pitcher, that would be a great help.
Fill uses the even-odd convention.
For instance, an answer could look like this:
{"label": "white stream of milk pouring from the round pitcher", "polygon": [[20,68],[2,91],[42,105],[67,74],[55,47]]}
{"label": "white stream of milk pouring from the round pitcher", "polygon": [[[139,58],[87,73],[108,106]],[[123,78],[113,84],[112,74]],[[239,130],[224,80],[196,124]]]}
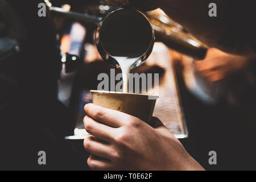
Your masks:
{"label": "white stream of milk pouring from the round pitcher", "polygon": [[134,57],[119,57],[113,56],[115,60],[117,60],[123,76],[123,93],[128,93],[128,82],[129,82],[129,73],[131,71],[131,67],[135,63],[138,58]]}

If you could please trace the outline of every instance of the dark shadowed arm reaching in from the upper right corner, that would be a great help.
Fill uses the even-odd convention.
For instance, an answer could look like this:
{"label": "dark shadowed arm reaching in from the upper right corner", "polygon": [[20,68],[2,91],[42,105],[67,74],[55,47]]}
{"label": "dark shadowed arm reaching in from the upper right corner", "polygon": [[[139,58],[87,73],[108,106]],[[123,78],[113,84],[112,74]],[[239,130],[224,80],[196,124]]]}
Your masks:
{"label": "dark shadowed arm reaching in from the upper right corner", "polygon": [[[108,3],[140,3],[146,10],[160,7],[201,42],[247,57],[256,56],[253,1],[232,0],[106,0]],[[216,3],[217,17],[209,16],[209,4]]]}

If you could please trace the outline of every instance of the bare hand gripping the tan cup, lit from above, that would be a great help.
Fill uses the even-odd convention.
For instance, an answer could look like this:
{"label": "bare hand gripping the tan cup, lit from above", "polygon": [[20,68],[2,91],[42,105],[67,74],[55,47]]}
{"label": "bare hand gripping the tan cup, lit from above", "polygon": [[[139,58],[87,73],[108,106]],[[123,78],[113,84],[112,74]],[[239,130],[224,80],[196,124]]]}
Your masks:
{"label": "bare hand gripping the tan cup, lit from above", "polygon": [[201,170],[182,144],[154,118],[155,128],[131,115],[85,106],[84,140],[93,170]]}

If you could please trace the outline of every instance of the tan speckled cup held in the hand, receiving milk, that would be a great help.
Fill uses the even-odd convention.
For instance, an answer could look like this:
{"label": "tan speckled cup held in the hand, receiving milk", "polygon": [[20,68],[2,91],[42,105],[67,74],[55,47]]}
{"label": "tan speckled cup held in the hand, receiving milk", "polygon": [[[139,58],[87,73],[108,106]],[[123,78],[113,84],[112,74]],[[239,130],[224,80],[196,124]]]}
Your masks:
{"label": "tan speckled cup held in the hand, receiving milk", "polygon": [[150,120],[158,96],[146,94],[90,90],[93,104],[133,115],[151,124]]}

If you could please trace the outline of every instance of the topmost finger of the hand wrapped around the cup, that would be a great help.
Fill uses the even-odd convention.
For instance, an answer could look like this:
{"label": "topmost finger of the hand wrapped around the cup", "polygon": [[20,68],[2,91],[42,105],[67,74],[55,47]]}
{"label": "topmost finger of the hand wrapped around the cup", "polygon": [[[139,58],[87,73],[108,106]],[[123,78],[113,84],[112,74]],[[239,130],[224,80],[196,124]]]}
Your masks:
{"label": "topmost finger of the hand wrapped around the cup", "polygon": [[95,104],[86,104],[85,113],[96,121],[102,122],[112,127],[121,127],[131,120],[131,115],[122,113],[117,110],[107,109]]}

